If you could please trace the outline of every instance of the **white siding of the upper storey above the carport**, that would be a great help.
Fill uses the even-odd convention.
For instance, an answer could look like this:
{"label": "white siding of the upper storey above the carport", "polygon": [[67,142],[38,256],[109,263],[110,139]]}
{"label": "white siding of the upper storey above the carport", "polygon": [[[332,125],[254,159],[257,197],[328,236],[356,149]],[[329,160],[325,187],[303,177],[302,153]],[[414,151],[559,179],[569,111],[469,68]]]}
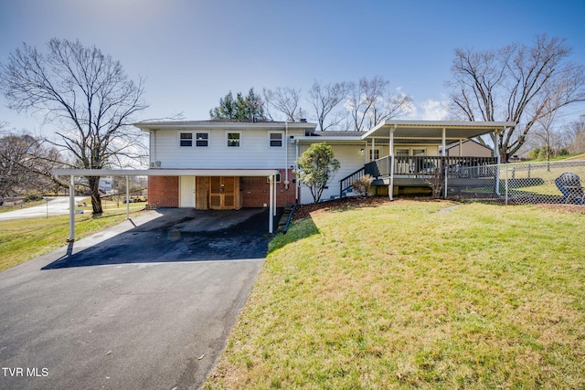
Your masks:
{"label": "white siding of the upper storey above the carport", "polygon": [[[193,146],[179,146],[179,132],[193,132]],[[208,146],[196,146],[196,132],[209,132]],[[151,133],[152,163],[161,162],[161,168],[194,169],[272,169],[294,164],[294,145],[282,137],[282,147],[270,146],[271,131],[242,130],[239,147],[229,147],[227,132],[208,131],[157,131]],[[291,135],[304,135],[303,131],[289,131]],[[155,140],[154,140],[155,137]],[[288,162],[285,152],[288,148]]]}

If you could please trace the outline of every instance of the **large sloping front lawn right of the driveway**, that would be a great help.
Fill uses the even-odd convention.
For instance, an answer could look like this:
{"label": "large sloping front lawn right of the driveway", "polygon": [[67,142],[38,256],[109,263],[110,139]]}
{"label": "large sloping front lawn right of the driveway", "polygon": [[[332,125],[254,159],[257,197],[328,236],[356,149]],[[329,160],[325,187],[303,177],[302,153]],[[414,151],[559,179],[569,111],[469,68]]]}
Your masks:
{"label": "large sloping front lawn right of the driveway", "polygon": [[204,388],[583,388],[584,262],[585,216],[537,206],[314,213]]}

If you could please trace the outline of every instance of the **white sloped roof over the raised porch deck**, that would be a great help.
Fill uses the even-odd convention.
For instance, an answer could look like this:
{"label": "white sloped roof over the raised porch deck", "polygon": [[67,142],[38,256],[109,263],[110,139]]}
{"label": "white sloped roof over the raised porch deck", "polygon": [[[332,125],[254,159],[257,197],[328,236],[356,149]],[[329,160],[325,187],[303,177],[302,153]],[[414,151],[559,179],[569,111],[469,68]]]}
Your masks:
{"label": "white sloped roof over the raised porch deck", "polygon": [[386,138],[394,131],[395,143],[441,144],[442,131],[445,141],[451,143],[466,140],[489,132],[501,132],[515,127],[514,121],[384,121],[362,135],[362,139]]}

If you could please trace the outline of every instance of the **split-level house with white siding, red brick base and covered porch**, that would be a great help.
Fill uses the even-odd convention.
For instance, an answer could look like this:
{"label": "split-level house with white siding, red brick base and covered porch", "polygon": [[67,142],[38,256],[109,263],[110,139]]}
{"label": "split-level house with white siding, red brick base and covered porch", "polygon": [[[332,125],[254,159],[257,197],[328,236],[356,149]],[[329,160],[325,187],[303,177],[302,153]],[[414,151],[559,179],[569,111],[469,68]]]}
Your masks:
{"label": "split-level house with white siding, red brick base and covered porch", "polygon": [[392,197],[400,187],[427,185],[423,176],[432,167],[495,163],[497,158],[491,155],[449,157],[442,151],[457,144],[461,150],[470,138],[498,133],[515,123],[384,121],[368,132],[316,132],[316,125],[307,121],[134,125],[149,134],[151,204],[239,209],[313,202],[309,189],[297,183],[293,169],[296,158],[314,142],[330,144],[341,163],[323,199],[348,195],[362,174],[372,174],[377,179],[374,184]]}

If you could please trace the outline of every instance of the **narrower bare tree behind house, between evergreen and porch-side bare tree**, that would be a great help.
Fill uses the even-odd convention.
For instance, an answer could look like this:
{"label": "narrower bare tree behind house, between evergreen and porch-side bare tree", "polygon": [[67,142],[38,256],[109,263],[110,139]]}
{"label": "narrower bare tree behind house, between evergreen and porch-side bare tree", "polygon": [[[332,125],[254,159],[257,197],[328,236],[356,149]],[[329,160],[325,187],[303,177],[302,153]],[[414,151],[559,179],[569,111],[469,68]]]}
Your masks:
{"label": "narrower bare tree behind house, between evergreen and porch-side bare tree", "polygon": [[[339,103],[346,99],[349,92],[349,84],[345,81],[322,84],[314,81],[309,90],[309,102],[313,106],[314,114],[319,130],[325,131],[335,128],[347,117],[347,111],[334,112]],[[328,121],[327,121],[328,120]]]}

